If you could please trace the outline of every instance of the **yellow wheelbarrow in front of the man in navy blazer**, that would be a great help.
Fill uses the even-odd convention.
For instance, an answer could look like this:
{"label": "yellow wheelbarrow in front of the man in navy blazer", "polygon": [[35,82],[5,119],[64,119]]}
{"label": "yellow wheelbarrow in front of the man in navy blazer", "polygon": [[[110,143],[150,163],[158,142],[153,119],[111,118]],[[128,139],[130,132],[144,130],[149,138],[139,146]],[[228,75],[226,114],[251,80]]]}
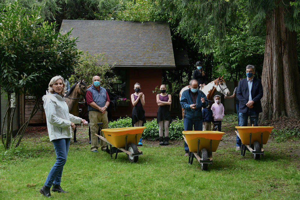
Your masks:
{"label": "yellow wheelbarrow in front of the man in navy blazer", "polygon": [[235,127],[238,131],[235,133],[241,139],[241,155],[245,156],[246,149],[253,154],[254,160],[259,160],[260,155],[264,155],[262,145],[267,144],[271,130],[274,127]]}

